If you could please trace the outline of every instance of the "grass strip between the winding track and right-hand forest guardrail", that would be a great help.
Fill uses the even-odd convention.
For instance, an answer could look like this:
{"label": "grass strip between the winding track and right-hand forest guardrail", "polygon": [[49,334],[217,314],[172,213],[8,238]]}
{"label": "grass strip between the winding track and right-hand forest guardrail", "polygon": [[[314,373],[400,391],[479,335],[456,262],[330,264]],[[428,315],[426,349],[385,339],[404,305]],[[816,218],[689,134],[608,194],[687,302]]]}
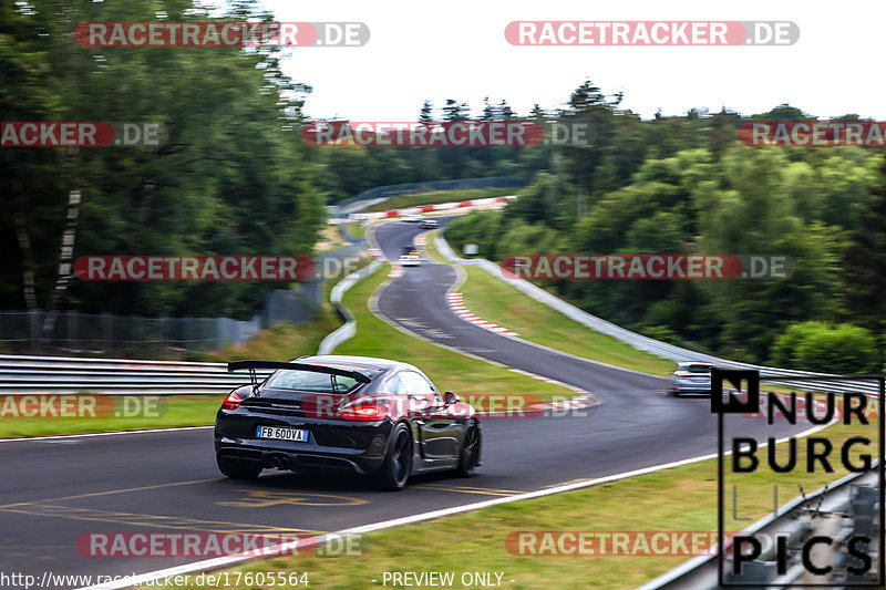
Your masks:
{"label": "grass strip between the winding track and right-hand forest guardrail", "polygon": [[[434,244],[437,231],[429,234],[426,251],[434,260],[445,262]],[[462,268],[467,272],[467,280],[459,289],[464,303],[484,320],[509,328],[530,342],[594,361],[656,375],[673,372],[674,363],[671,361],[633,349],[570,320],[478,267]]]}

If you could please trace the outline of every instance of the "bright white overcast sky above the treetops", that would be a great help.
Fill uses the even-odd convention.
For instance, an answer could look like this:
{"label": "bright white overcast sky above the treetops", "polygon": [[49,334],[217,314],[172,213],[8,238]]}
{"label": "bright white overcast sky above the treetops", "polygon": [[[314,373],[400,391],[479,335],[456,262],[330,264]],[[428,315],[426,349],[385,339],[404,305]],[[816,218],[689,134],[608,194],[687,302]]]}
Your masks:
{"label": "bright white overcast sky above the treetops", "polygon": [[[886,2],[780,0],[512,0],[401,2],[264,0],[284,22],[360,21],[361,48],[285,50],[284,70],[313,86],[309,116],[415,121],[425,100],[471,105],[503,99],[518,114],[564,105],[585,79],[643,118],[692,107],[753,114],[790,103],[820,118],[856,113],[886,121]],[[790,46],[515,46],[514,20],[740,20],[795,22]]]}

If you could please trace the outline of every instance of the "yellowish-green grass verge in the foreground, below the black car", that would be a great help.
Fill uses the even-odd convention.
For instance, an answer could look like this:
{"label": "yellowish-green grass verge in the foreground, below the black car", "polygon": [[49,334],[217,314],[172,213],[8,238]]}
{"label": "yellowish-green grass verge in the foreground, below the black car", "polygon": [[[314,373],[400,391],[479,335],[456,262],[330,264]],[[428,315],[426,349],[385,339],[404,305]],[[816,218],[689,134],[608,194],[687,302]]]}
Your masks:
{"label": "yellowish-green grass verge in the foreground, below the black car", "polygon": [[[839,449],[846,438],[859,434],[859,427],[836,425],[823,434]],[[805,445],[797,446],[800,465],[803,465]],[[764,463],[765,451],[759,455]],[[783,464],[786,445],[779,446],[776,456]],[[856,460],[857,454],[852,453],[851,457]],[[832,474],[796,474],[796,477],[792,474],[790,478],[784,474],[773,475],[769,469],[749,474],[738,482],[738,516],[758,520],[769,514],[773,485],[779,486],[779,499],[783,505],[799,495],[797,484],[808,493],[846,474],[838,460]],[[727,508],[727,530],[738,531],[751,522],[733,521],[731,505]],[[371,580],[381,580],[385,571],[454,571],[456,579],[465,571],[504,572],[503,580],[514,580],[504,586],[514,590],[636,588],[690,556],[521,556],[512,555],[505,540],[519,531],[715,530],[717,462],[711,459],[576,491],[380,530],[361,540],[360,545],[369,548],[361,556],[272,558],[229,571],[308,572],[311,587],[340,590],[382,588],[380,582]]]}

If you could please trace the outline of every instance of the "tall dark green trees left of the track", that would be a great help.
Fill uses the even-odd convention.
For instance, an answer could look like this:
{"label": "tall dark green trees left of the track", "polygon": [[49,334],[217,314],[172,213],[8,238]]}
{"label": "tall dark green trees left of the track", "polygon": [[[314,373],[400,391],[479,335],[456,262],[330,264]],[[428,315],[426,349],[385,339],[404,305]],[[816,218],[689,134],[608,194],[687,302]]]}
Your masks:
{"label": "tall dark green trees left of the track", "polygon": [[[279,51],[79,45],[79,22],[207,20],[188,0],[0,1],[3,121],[162,123],[158,147],[0,148],[0,308],[248,318],[274,283],[59,282],[69,195],[84,255],[311,253],[324,221]],[[261,17],[248,7],[227,17]],[[265,19],[269,17],[265,15]],[[31,278],[33,287],[31,287]]]}

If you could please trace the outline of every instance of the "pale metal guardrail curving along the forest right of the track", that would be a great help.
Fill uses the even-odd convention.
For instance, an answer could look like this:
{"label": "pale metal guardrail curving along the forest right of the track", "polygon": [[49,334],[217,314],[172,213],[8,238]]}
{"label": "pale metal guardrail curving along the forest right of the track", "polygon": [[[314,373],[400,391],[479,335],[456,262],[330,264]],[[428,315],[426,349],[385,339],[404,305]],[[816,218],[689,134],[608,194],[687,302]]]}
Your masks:
{"label": "pale metal guardrail curving along the forest right of the track", "polygon": [[785,385],[787,387],[808,387],[810,385],[814,386],[818,391],[823,392],[843,392],[843,391],[857,391],[864,392],[868,395],[875,395],[877,393],[876,385],[870,384],[869,382],[851,382],[851,383],[828,383],[826,381],[811,381],[808,380],[810,376],[827,376],[827,373],[813,373],[807,371],[792,371],[787,369],[775,369],[771,366],[761,366],[754,365],[749,363],[739,363],[735,361],[728,361],[725,359],[720,359],[717,356],[711,356],[710,354],[702,354],[700,352],[691,351],[688,349],[682,349],[680,346],[674,346],[673,344],[668,344],[666,342],[659,342],[657,340],[652,340],[651,338],[638,334],[636,332],[631,332],[630,330],[626,330],[619,325],[616,325],[611,322],[608,322],[601,318],[596,315],[591,315],[590,313],[578,309],[577,307],[567,303],[563,299],[559,299],[556,296],[553,296],[542,289],[540,287],[530,283],[524,279],[519,278],[509,278],[505,277],[502,272],[502,269],[494,262],[486,260],[485,258],[477,258],[477,259],[465,259],[461,258],[456,255],[452,248],[450,247],[449,242],[443,237],[443,232],[437,232],[435,237],[436,248],[440,253],[446,258],[459,265],[474,265],[478,266],[493,277],[496,277],[515,288],[519,289],[527,296],[532,297],[536,301],[540,301],[546,306],[554,308],[555,310],[559,311],[567,318],[577,321],[578,323],[590,328],[591,330],[596,330],[597,332],[601,332],[604,334],[610,335],[616,340],[619,340],[630,346],[633,346],[637,350],[641,350],[645,352],[649,352],[650,354],[655,354],[656,356],[661,356],[662,359],[668,359],[673,362],[681,362],[681,361],[704,361],[717,364],[719,366],[731,368],[731,369],[755,369],[760,371],[761,379],[765,379],[766,375],[769,376],[779,376],[779,377],[790,377],[790,376],[797,376],[804,377],[802,382],[791,382],[791,381],[780,381],[779,383]]}

